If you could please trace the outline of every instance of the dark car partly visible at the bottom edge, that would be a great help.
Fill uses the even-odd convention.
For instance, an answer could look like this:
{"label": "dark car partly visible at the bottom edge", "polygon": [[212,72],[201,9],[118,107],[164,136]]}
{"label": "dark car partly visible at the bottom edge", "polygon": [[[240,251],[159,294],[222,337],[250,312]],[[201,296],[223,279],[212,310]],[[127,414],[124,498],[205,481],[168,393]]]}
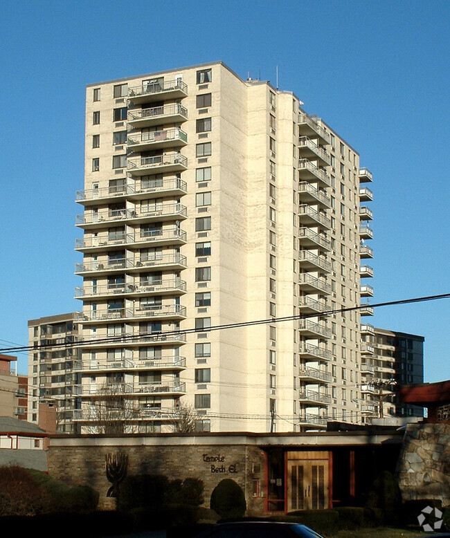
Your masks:
{"label": "dark car partly visible at the bottom edge", "polygon": [[298,523],[276,521],[239,521],[217,523],[196,538],[323,538],[314,530]]}

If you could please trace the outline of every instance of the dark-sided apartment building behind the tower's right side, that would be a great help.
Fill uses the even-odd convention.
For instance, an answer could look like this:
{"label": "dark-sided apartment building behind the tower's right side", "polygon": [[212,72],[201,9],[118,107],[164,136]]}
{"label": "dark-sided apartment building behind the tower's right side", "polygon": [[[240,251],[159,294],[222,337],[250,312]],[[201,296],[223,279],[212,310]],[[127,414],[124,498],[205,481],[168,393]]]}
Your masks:
{"label": "dark-sided apartment building behind the tower's right side", "polygon": [[400,400],[399,387],[424,381],[424,337],[363,325],[361,338],[363,422],[423,417],[423,407]]}

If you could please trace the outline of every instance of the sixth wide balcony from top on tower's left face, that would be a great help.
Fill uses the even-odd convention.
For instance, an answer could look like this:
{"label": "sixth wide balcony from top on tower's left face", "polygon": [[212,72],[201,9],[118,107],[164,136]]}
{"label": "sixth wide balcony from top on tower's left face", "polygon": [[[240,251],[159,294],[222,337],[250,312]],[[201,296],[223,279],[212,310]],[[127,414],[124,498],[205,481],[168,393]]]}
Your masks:
{"label": "sixth wide balcony from top on tower's left face", "polygon": [[180,304],[165,305],[145,305],[142,308],[136,306],[132,308],[103,308],[91,312],[75,312],[75,319],[78,322],[105,322],[111,319],[184,319],[186,318],[186,306]]}

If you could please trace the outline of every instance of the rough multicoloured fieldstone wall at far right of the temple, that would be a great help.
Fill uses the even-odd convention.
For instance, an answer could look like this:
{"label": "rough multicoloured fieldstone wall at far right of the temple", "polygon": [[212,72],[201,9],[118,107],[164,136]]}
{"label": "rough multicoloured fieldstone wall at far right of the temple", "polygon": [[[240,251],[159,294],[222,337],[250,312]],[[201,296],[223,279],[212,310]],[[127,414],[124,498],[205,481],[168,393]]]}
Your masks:
{"label": "rough multicoloured fieldstone wall at far right of the temple", "polygon": [[450,424],[408,424],[397,467],[404,501],[442,499],[450,505]]}

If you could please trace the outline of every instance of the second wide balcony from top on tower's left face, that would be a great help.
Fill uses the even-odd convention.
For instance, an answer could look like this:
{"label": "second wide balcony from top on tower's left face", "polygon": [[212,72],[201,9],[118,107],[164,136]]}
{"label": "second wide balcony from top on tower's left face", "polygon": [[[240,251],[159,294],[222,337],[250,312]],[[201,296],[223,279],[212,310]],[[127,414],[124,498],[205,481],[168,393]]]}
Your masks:
{"label": "second wide balcony from top on tower's left face", "polygon": [[105,210],[98,212],[85,211],[77,215],[76,225],[80,228],[108,228],[111,223],[116,225],[126,221],[175,221],[188,216],[185,205],[180,203],[156,203],[147,207],[136,206],[136,209]]}

